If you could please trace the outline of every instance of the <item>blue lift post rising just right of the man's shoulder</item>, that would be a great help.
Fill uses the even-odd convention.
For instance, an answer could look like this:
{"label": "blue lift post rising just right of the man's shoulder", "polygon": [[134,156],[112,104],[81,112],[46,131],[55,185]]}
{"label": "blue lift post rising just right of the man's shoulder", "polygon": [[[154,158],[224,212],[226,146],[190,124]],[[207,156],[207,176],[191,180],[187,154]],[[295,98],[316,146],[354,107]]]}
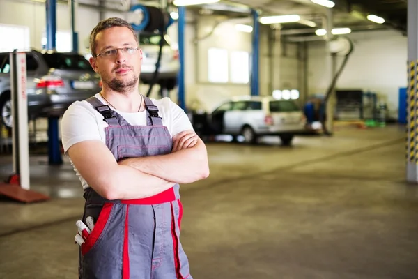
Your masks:
{"label": "blue lift post rising just right of the man's shoulder", "polygon": [[185,110],[185,29],[186,8],[178,7],[178,55],[180,71],[178,72],[178,105]]}

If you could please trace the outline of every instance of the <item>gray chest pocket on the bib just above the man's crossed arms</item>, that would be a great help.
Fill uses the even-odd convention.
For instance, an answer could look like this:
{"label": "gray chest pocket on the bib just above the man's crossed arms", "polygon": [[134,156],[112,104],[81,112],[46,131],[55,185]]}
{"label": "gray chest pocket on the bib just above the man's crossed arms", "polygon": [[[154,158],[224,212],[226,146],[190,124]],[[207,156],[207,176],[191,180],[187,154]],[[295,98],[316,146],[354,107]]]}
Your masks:
{"label": "gray chest pocket on the bib just above the man's crossed arms", "polygon": [[157,156],[170,153],[171,150],[168,145],[134,145],[121,144],[118,145],[118,160],[132,157],[147,157]]}

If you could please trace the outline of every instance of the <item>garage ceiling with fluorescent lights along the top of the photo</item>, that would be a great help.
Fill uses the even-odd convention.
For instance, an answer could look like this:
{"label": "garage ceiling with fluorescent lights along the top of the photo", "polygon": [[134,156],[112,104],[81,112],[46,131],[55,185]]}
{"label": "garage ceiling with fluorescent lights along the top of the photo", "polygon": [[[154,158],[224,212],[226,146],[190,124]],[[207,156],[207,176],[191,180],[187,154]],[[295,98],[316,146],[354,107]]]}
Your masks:
{"label": "garage ceiling with fluorescent lights along the top of the photo", "polygon": [[[92,3],[93,0],[79,0]],[[101,6],[113,8],[129,7],[132,3],[158,5],[159,0],[99,0]],[[169,3],[172,0],[168,0]],[[349,27],[353,32],[376,29],[395,29],[406,35],[407,0],[333,0],[333,27]],[[244,7],[244,9],[242,9]],[[201,14],[219,14],[228,17],[249,18],[248,8],[260,10],[262,15],[300,15],[304,20],[316,23],[309,27],[301,23],[281,24],[284,36],[311,36],[316,29],[323,28],[327,8],[312,3],[311,0],[221,0],[219,3],[188,6]],[[385,18],[384,24],[366,19],[369,14]]]}

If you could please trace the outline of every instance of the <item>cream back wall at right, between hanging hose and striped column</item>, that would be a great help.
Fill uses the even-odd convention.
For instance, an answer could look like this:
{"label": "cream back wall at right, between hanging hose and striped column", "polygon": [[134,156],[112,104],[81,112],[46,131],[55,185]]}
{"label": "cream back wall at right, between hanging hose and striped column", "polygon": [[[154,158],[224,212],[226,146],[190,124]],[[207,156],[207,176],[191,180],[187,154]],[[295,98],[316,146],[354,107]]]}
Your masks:
{"label": "cream back wall at right, between hanging hose and striped column", "polygon": [[[389,116],[397,119],[398,89],[407,84],[407,38],[396,31],[366,31],[349,37],[354,51],[336,84],[337,89],[375,92],[380,100],[387,102]],[[325,43],[310,43],[309,92],[325,93],[330,79],[330,56]]]}

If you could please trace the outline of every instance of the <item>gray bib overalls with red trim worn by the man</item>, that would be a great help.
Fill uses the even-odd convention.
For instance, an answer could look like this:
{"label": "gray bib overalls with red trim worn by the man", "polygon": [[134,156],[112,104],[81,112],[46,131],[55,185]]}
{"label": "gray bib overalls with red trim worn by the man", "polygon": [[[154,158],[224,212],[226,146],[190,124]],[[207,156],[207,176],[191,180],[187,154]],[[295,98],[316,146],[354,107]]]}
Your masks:
{"label": "gray bib overalls with red trim worn by the man", "polygon": [[[157,106],[145,96],[144,100],[146,126],[131,126],[97,98],[87,100],[109,124],[106,145],[116,160],[171,152],[171,135],[162,126]],[[107,200],[86,188],[83,222],[92,216],[95,227],[80,248],[79,278],[192,279],[179,239],[179,187],[130,200]]]}

